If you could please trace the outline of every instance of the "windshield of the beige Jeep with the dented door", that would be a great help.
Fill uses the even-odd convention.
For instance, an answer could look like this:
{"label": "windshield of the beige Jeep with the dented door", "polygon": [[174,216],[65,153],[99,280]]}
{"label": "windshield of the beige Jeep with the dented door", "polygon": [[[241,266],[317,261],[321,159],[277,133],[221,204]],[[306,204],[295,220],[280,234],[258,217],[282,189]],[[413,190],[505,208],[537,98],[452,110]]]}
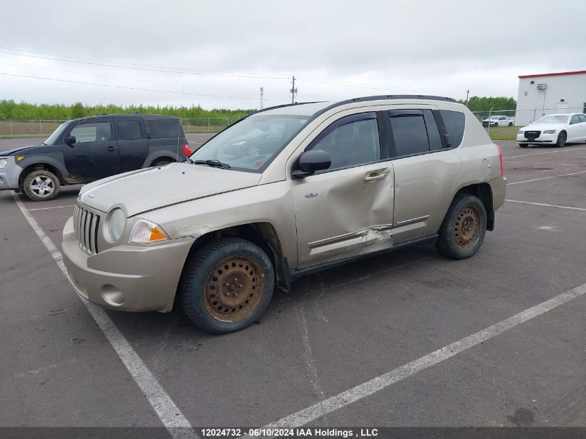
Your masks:
{"label": "windshield of the beige Jeep with the dented door", "polygon": [[191,154],[195,160],[218,160],[232,169],[259,171],[305,126],[309,116],[258,114],[226,128]]}

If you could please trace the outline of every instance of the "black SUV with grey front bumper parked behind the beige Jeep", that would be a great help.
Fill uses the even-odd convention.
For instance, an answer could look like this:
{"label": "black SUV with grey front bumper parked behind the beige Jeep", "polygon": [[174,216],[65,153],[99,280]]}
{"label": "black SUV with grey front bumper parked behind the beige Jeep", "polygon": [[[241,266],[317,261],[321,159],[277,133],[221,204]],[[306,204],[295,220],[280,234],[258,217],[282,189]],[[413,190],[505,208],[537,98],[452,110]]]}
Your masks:
{"label": "black SUV with grey front bumper parked behind the beige Jeep", "polygon": [[191,154],[178,117],[98,114],[62,123],[40,146],[0,153],[0,190],[50,200],[64,184],[87,183]]}

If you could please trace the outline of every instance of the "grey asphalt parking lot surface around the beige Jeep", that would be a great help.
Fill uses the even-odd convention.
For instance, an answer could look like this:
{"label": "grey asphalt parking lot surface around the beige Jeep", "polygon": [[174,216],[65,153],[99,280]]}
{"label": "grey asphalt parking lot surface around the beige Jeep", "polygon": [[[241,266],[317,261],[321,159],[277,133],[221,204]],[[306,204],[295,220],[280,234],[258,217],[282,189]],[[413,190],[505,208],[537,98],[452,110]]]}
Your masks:
{"label": "grey asphalt parking lot surface around the beige Jeep", "polygon": [[[421,245],[310,275],[224,336],[180,309],[105,314],[193,427],[586,427],[586,144],[496,143],[508,201],[472,259]],[[137,385],[47,250],[47,239],[60,248],[78,189],[42,203],[17,195],[36,231],[0,193],[0,426],[160,427],[153,389]]]}

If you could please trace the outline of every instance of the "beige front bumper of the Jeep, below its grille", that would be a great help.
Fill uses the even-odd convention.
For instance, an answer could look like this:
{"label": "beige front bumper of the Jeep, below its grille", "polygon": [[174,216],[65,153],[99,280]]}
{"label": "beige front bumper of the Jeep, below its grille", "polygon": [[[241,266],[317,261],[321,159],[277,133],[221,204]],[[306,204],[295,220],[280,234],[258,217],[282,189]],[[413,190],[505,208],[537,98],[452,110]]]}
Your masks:
{"label": "beige front bumper of the Jeep, below its grille", "polygon": [[63,262],[77,293],[104,308],[169,312],[193,238],[114,246],[88,255],[75,239],[73,217],[63,229]]}

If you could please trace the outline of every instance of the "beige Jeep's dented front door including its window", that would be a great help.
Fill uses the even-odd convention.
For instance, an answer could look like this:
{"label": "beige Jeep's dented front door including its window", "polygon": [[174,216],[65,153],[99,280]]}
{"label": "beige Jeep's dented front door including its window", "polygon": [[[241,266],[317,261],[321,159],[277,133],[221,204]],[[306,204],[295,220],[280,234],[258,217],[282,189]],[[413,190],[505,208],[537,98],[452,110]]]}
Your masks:
{"label": "beige Jeep's dented front door including its window", "polygon": [[375,111],[344,115],[305,148],[327,151],[331,166],[291,181],[298,268],[392,246],[393,164],[379,119]]}

